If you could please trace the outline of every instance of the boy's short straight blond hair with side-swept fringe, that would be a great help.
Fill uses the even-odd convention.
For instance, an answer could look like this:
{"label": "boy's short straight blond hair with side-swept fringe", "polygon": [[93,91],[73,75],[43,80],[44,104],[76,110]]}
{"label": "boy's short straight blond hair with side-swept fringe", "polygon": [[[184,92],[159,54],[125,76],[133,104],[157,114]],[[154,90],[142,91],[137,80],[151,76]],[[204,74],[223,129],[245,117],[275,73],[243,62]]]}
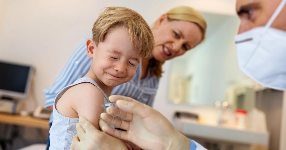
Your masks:
{"label": "boy's short straight blond hair with side-swept fringe", "polygon": [[154,37],[149,25],[139,13],[126,7],[107,7],[93,25],[92,39],[98,45],[104,41],[108,31],[118,26],[127,29],[139,56],[147,58],[152,54]]}

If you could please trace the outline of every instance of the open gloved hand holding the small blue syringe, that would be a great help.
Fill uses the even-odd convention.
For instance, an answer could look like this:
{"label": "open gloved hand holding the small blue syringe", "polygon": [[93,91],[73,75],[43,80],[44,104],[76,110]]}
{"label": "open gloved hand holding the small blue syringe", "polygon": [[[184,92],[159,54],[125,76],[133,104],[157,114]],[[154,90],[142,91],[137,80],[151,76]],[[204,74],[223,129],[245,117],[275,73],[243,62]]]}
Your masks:
{"label": "open gloved hand holding the small blue syringe", "polygon": [[101,118],[106,123],[126,131],[105,126],[102,127],[104,132],[119,139],[131,141],[142,149],[189,149],[190,140],[178,132],[168,119],[155,109],[121,95],[112,95],[109,100],[116,103],[118,107],[108,107],[107,113],[100,115]]}

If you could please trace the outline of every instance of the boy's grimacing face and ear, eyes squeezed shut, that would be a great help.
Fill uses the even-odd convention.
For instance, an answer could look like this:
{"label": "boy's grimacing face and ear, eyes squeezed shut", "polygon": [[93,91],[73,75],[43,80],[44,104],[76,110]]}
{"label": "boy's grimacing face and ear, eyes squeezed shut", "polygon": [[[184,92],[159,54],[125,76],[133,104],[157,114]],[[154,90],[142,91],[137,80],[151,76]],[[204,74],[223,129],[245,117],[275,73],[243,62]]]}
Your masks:
{"label": "boy's grimacing face and ear, eyes squeezed shut", "polygon": [[134,51],[126,29],[116,27],[108,32],[104,41],[98,43],[97,47],[93,40],[90,44],[93,44],[94,48],[93,53],[88,52],[88,55],[93,58],[92,70],[100,82],[116,87],[132,79],[141,57]]}

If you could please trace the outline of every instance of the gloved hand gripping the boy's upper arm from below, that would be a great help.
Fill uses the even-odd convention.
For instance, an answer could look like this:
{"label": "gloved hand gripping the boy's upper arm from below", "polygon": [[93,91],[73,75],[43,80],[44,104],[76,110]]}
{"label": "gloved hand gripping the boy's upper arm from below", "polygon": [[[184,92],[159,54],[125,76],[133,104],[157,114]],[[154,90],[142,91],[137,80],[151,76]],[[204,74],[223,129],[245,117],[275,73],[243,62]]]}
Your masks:
{"label": "gloved hand gripping the boy's upper arm from below", "polygon": [[76,124],[77,134],[72,140],[70,150],[127,150],[122,140],[99,131],[85,118],[80,117],[79,121]]}

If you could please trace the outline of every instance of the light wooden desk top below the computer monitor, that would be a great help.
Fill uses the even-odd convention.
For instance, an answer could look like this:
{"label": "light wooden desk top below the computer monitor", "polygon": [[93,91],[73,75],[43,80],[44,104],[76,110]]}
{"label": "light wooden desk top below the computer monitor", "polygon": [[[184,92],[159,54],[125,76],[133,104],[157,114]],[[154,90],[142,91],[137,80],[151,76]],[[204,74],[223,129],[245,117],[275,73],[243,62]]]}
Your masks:
{"label": "light wooden desk top below the computer monitor", "polygon": [[20,116],[0,113],[0,123],[49,130],[48,119],[40,119],[31,116]]}

